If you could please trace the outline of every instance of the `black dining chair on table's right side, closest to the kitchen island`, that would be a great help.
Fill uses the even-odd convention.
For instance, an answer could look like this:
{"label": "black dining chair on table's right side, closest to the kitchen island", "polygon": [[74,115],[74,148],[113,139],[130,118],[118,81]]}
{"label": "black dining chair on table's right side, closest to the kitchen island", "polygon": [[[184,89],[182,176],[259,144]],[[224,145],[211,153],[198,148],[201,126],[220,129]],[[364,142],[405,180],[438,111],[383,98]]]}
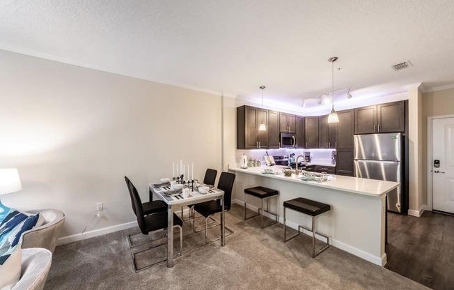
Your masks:
{"label": "black dining chair on table's right side, closest to the kitchen island", "polygon": [[[221,176],[219,177],[219,182],[217,183],[217,188],[219,188],[220,190],[224,190],[224,211],[229,211],[230,206],[232,205],[232,190],[233,190],[234,182],[235,182],[235,174],[232,174],[229,172],[221,172]],[[222,211],[221,199],[205,201],[200,204],[195,204],[194,211],[196,211],[197,213],[200,213],[201,215],[203,215],[203,217],[205,217],[205,243],[212,243],[214,241],[219,240],[221,237],[216,238],[212,241],[208,241],[207,233],[208,233],[208,229],[210,229],[212,227],[217,227],[218,225],[220,225],[220,223],[217,222],[216,224],[208,227],[208,218],[210,218],[211,215],[214,215],[215,213],[221,213],[221,211]],[[200,227],[203,227],[203,226],[200,226]],[[194,228],[194,225],[193,225],[193,228]],[[229,229],[228,227],[225,227],[225,228],[226,228],[226,230],[230,231],[230,234],[233,234],[233,231],[231,229]],[[194,231],[196,231],[196,228],[194,228]]]}

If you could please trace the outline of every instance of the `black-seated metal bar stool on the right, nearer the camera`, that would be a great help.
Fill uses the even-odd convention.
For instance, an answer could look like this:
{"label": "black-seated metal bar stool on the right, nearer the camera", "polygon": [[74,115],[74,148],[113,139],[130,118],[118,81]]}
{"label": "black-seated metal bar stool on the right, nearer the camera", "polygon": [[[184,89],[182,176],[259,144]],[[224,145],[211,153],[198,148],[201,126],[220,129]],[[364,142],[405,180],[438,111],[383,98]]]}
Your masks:
{"label": "black-seated metal bar stool on the right, nearer the camera", "polygon": [[[283,207],[284,207],[284,218],[283,218],[284,243],[286,241],[290,241],[292,238],[295,238],[295,236],[299,236],[299,234],[301,234],[300,229],[306,229],[307,231],[312,232],[312,257],[315,258],[318,256],[318,254],[320,254],[324,250],[327,250],[327,248],[329,247],[329,236],[325,236],[324,234],[320,234],[317,231],[315,231],[315,219],[318,215],[320,215],[322,213],[326,213],[327,211],[331,210],[331,206],[329,206],[329,204],[322,204],[321,202],[318,202],[318,201],[313,201],[311,199],[304,199],[302,197],[298,197],[296,199],[290,199],[288,201],[284,201]],[[285,234],[285,210],[287,208],[290,208],[293,211],[297,211],[299,213],[311,215],[312,216],[312,229],[309,229],[308,227],[304,227],[302,225],[298,225],[298,234],[295,234],[293,236],[290,236],[290,238],[287,238],[286,234]],[[324,238],[327,238],[327,245],[325,245],[322,248],[322,250],[320,250],[316,254],[315,254],[315,234],[318,234]]]}

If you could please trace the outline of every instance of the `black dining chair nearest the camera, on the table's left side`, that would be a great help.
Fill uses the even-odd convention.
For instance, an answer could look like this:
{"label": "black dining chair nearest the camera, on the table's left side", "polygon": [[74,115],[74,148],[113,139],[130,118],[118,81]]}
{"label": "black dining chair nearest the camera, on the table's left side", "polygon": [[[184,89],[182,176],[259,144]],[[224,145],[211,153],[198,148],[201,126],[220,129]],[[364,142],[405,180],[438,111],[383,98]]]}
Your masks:
{"label": "black dining chair nearest the camera, on the table's left side", "polygon": [[[158,211],[157,213],[150,213],[149,215],[146,215],[145,212],[143,211],[143,204],[139,197],[139,192],[137,192],[136,188],[134,188],[134,185],[132,185],[132,183],[130,183],[130,190],[132,192],[131,196],[132,196],[132,200],[134,202],[134,206],[136,208],[137,224],[139,224],[139,229],[141,230],[141,233],[144,235],[148,235],[148,234],[154,233],[156,231],[162,231],[162,230],[167,229],[167,222],[168,222],[167,211]],[[180,220],[180,217],[178,217],[178,215],[175,215],[175,213],[173,213],[173,228],[177,227],[178,229],[180,229],[180,252],[178,252],[178,254],[176,254],[175,257],[180,256],[180,254],[182,252],[182,248],[183,248],[182,225],[183,225],[183,221]],[[147,266],[137,268],[136,254],[139,254],[141,252],[146,252],[148,250],[151,250],[155,247],[159,247],[161,245],[166,245],[166,243],[162,243],[159,245],[148,247],[148,249],[133,252],[132,261],[134,264],[134,270],[136,272],[138,272],[139,270],[143,270],[145,268],[149,268],[149,267],[159,264],[163,261],[166,261],[167,259],[162,259],[155,263],[148,264]]]}

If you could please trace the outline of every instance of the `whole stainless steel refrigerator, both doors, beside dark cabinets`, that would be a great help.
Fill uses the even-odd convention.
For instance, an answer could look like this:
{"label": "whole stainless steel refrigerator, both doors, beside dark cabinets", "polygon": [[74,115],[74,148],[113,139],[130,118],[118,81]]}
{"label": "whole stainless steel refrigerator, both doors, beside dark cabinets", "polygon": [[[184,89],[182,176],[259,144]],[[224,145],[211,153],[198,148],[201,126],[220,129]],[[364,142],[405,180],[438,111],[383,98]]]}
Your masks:
{"label": "whole stainless steel refrigerator, both doors, beside dark cabinets", "polygon": [[400,182],[388,193],[388,211],[396,213],[403,209],[402,142],[401,133],[354,135],[354,176]]}

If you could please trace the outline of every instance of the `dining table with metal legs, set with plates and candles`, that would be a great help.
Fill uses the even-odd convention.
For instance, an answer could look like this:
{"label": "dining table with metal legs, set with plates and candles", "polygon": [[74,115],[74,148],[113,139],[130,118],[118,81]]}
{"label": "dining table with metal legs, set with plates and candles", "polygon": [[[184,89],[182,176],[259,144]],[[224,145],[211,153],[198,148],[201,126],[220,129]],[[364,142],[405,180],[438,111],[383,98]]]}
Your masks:
{"label": "dining table with metal legs, set with plates and candles", "polygon": [[187,188],[191,189],[189,197],[183,197],[182,193],[172,190],[170,183],[151,183],[150,194],[155,193],[159,199],[167,204],[167,267],[173,267],[173,211],[191,204],[198,204],[213,199],[221,199],[221,246],[226,245],[225,239],[225,217],[224,217],[224,190],[210,187],[206,193],[198,192],[201,183],[189,183]]}

